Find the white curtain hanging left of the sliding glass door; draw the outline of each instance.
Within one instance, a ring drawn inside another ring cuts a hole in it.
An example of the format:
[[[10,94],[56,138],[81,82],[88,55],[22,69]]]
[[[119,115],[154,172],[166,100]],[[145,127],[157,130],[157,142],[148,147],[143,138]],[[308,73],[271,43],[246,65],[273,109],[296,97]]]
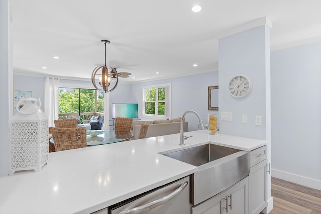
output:
[[[58,119],[59,79],[46,77],[45,81],[45,114],[48,116],[48,126],[55,127]]]

